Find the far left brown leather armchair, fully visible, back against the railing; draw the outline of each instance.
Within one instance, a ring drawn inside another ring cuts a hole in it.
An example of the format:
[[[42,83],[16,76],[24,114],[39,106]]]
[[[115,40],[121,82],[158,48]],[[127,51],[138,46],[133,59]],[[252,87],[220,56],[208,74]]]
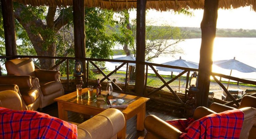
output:
[[[7,75],[30,75],[32,77],[32,86],[39,88],[41,100],[39,108],[54,103],[55,98],[64,95],[59,71],[35,69],[34,62],[30,58],[9,60],[5,63],[5,67]]]

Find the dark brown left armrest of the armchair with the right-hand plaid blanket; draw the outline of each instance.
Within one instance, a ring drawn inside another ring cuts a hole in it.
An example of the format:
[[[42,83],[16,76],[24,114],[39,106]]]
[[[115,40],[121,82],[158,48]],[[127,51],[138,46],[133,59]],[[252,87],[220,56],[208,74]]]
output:
[[[182,133],[174,126],[154,115],[149,115],[145,118],[144,126],[148,131],[147,134],[152,134],[153,137],[158,137],[159,139],[178,139]],[[152,136],[146,135],[145,138],[152,138]]]

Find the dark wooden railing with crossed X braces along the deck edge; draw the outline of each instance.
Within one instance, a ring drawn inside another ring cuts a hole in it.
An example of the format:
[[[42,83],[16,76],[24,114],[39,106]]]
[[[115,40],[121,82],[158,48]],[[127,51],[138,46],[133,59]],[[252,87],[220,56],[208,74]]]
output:
[[[129,63],[136,63],[135,61],[127,61],[127,60],[113,60],[113,59],[93,59],[93,58],[73,58],[73,57],[48,57],[48,56],[14,56],[14,57],[7,57],[7,56],[0,56],[0,59],[8,59],[8,58],[35,58],[35,59],[61,59],[60,62],[58,62],[55,66],[51,67],[48,70],[53,70],[56,67],[60,66],[64,61],[66,62],[66,73],[67,73],[67,85],[69,86],[69,60],[81,60],[81,61],[86,61],[86,67],[89,67],[89,64],[92,64],[104,77],[100,80],[100,82],[104,81],[105,79],[110,80],[109,76],[111,76],[113,73],[115,73],[117,70],[119,70],[121,67],[126,65],[126,75],[125,75],[125,87],[124,89],[121,89],[116,83],[113,83],[113,86],[115,86],[119,92],[122,93],[126,93],[126,94],[133,94],[133,95],[138,95],[138,96],[145,96],[145,97],[150,97],[150,95],[160,91],[161,89],[163,89],[164,87],[167,87],[170,92],[173,94],[173,96],[176,99],[176,102],[169,102],[169,103],[173,103],[175,105],[180,105],[180,106],[184,106],[184,103],[186,101],[186,99],[184,101],[182,101],[182,99],[177,95],[177,93],[172,89],[171,86],[169,86],[169,84],[173,81],[175,81],[176,79],[178,79],[179,77],[181,77],[183,74],[185,74],[187,72],[187,76],[186,76],[186,88],[188,88],[188,84],[189,84],[189,79],[190,79],[190,71],[198,71],[198,69],[192,69],[192,68],[184,68],[184,67],[177,67],[177,66],[169,66],[169,65],[162,65],[162,64],[155,64],[155,63],[148,63],[148,62],[138,62],[139,64],[144,64],[146,65],[146,76],[145,76],[145,86],[144,86],[144,93],[143,94],[134,94],[134,93],[130,93],[127,92],[127,76],[128,76],[128,66]],[[118,62],[118,63],[122,63],[120,66],[116,67],[115,70],[111,71],[109,74],[105,74],[104,71],[102,71],[96,64],[95,62]],[[1,65],[0,65],[1,66]],[[165,81],[164,78],[157,72],[157,70],[153,67],[153,66],[158,66],[158,67],[165,67],[165,68],[172,68],[172,69],[181,69],[184,70],[183,72],[181,72],[180,74],[178,74],[177,76],[175,76],[174,78],[172,78],[169,81]],[[1,68],[1,67],[0,67]],[[150,69],[149,69],[150,68]],[[160,78],[160,80],[164,83],[162,86],[154,89],[151,92],[147,92],[147,78],[148,78],[148,70],[153,70],[154,73],[156,74],[157,77]],[[89,75],[89,68],[86,69],[86,81],[85,81],[85,85],[88,85],[88,78]],[[232,99],[232,102],[227,103],[226,105],[232,105],[232,104],[236,104],[237,106],[239,106],[239,101],[240,99],[236,100],[229,92],[228,90],[225,88],[225,86],[216,78],[216,76],[221,77],[221,78],[227,78],[227,79],[231,79],[231,80],[236,80],[238,82],[243,82],[243,83],[247,83],[247,84],[254,84],[256,85],[256,81],[250,81],[250,80],[246,80],[246,79],[240,79],[237,77],[232,77],[232,76],[228,76],[228,75],[223,75],[223,74],[219,74],[219,73],[211,73],[211,76],[214,78],[214,80],[221,86],[221,88],[226,92],[226,94],[228,95],[228,97],[230,97]],[[115,90],[117,91],[117,90]],[[186,95],[186,94],[185,94]],[[186,96],[185,96],[186,98]],[[152,98],[155,99],[155,98]],[[163,101],[163,100],[162,100]]]

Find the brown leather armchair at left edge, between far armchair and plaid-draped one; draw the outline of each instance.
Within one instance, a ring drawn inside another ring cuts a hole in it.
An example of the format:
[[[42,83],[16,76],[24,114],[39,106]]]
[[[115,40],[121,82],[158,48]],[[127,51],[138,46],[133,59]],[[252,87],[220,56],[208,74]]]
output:
[[[31,76],[1,76],[0,77],[0,91],[13,90],[12,96],[7,97],[5,93],[0,93],[0,101],[12,109],[17,108],[14,102],[17,100],[15,96],[19,96],[22,102],[22,110],[36,111],[40,106],[39,89],[31,85]],[[17,83],[17,85],[16,85]],[[15,109],[17,110],[17,109]]]

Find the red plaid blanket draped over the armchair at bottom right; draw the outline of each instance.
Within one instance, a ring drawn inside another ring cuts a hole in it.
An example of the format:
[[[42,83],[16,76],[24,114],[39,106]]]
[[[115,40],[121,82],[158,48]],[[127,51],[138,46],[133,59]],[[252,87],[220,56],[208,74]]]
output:
[[[193,122],[190,119],[173,122],[174,125],[172,122],[168,123],[178,127],[178,129],[183,128],[184,125],[188,125],[185,133],[182,133],[180,136],[181,139],[239,139],[243,120],[244,113],[242,111],[230,110],[218,114],[211,114]],[[177,123],[182,123],[182,125],[177,126]]]

